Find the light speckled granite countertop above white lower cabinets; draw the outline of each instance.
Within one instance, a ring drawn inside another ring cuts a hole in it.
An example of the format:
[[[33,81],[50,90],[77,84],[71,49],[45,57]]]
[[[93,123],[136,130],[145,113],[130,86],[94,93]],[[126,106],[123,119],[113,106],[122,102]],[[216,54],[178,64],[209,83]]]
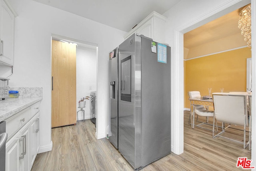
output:
[[[15,115],[19,111],[26,109],[42,99],[43,97],[41,96],[6,98],[5,100],[0,100],[0,121],[6,120],[8,117]]]

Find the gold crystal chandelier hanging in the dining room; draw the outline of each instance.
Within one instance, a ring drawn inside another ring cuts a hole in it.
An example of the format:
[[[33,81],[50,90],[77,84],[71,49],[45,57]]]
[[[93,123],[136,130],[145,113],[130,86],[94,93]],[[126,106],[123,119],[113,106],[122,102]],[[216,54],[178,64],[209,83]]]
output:
[[[241,29],[241,34],[244,35],[244,41],[247,42],[247,47],[251,47],[251,4],[241,8],[239,12],[238,28]]]

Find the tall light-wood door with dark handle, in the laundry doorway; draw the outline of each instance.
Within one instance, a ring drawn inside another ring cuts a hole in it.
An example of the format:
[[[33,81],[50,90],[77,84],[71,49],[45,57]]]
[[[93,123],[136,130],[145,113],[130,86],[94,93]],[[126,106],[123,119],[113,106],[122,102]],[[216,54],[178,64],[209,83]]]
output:
[[[52,127],[76,124],[76,45],[52,40]]]

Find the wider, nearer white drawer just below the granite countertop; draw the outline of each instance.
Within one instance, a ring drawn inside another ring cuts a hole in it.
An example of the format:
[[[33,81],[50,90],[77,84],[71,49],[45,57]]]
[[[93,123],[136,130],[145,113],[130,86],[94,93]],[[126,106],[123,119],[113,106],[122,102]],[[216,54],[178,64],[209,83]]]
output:
[[[8,139],[14,135],[30,119],[30,108],[26,108],[6,120],[6,133]]]

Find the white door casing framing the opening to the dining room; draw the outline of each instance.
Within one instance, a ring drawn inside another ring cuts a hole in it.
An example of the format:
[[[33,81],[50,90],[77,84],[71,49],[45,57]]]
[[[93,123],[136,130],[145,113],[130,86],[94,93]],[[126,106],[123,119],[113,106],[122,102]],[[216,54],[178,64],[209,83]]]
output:
[[[225,12],[227,11],[232,11],[235,10],[236,8],[242,7],[246,4],[243,4],[244,1],[239,1],[239,2],[232,2],[228,4],[225,8],[222,9],[216,9],[215,11],[212,10],[210,14],[207,16],[200,16],[196,18],[193,21],[190,21],[182,26],[179,27],[179,29],[174,31],[174,56],[173,56],[173,64],[172,64],[172,78],[174,79],[174,82],[172,83],[172,101],[173,101],[173,108],[172,108],[172,113],[173,114],[173,119],[172,119],[172,128],[173,127],[179,127],[177,131],[174,131],[173,137],[176,137],[174,140],[174,149],[176,149],[174,152],[176,154],[181,154],[183,153],[183,109],[184,109],[184,60],[183,60],[183,34],[193,30],[199,25],[205,24],[212,20],[213,17],[217,16],[222,16]],[[255,1],[253,1],[255,3]],[[253,12],[256,10],[256,6],[253,3],[252,5],[252,16],[254,16]],[[235,5],[234,5],[235,4]],[[224,9],[224,10],[223,10]],[[218,13],[216,13],[218,12]],[[255,19],[254,19],[255,20]],[[252,35],[254,35],[254,27],[255,24],[252,23]],[[255,37],[252,37],[252,42],[255,41]],[[254,61],[254,56],[255,56],[255,47],[252,46],[252,66],[256,65],[256,62]],[[255,73],[254,67],[252,67],[252,75]],[[254,77],[252,77],[252,89],[255,88],[255,81]],[[254,99],[254,95],[253,95]],[[177,107],[176,107],[177,106]],[[254,107],[252,107],[252,113],[254,113]],[[180,115],[182,113],[182,115]],[[252,117],[252,122],[254,122],[256,119]],[[252,127],[252,130],[254,130],[255,127]],[[252,137],[255,135],[254,132],[252,132]],[[254,139],[252,139],[254,141]],[[252,160],[255,158],[255,151],[252,147]]]

